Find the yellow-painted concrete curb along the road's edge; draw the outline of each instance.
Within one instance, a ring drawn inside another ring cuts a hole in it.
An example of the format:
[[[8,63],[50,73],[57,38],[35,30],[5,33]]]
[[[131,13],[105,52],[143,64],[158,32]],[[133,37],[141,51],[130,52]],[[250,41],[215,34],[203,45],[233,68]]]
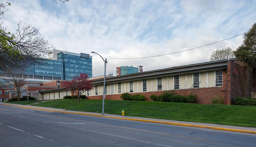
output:
[[[8,104],[4,104],[4,105],[8,105]],[[233,132],[240,132],[240,133],[256,134],[256,131],[238,130],[238,129],[228,129],[228,128],[224,128],[224,127],[213,127],[213,126],[204,126],[204,125],[192,125],[192,124],[186,124],[186,123],[163,122],[163,121],[151,121],[151,120],[147,120],[147,119],[122,118],[122,117],[102,116],[102,115],[97,115],[97,114],[87,114],[87,113],[77,113],[77,112],[64,112],[64,111],[58,111],[58,110],[31,108],[31,107],[15,106],[15,105],[8,105],[8,106],[14,106],[14,107],[20,107],[20,108],[28,108],[28,109],[36,109],[36,110],[44,110],[44,111],[51,111],[51,112],[60,112],[60,113],[69,113],[69,114],[80,114],[80,115],[85,115],[85,116],[96,116],[96,117],[106,117],[106,118],[114,118],[114,119],[123,119],[123,120],[129,120],[129,121],[141,121],[141,122],[163,123],[163,124],[167,124],[167,125],[187,126],[187,127],[199,127],[199,128],[213,129],[213,130],[223,130],[223,131],[233,131]]]

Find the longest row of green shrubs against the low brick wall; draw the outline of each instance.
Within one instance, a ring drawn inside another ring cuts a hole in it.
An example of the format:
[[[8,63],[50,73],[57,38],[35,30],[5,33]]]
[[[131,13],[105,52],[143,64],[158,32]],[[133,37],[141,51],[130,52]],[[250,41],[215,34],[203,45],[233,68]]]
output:
[[[188,102],[188,103],[196,103],[196,95],[176,95],[174,91],[164,92],[160,96],[151,95],[151,100],[159,101],[159,102]]]

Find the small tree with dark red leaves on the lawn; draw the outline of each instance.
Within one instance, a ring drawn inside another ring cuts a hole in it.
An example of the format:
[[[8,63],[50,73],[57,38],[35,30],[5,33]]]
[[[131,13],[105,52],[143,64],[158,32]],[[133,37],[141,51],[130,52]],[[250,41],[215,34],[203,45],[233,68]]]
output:
[[[80,74],[78,76],[74,76],[72,81],[65,81],[65,87],[68,90],[78,90],[77,100],[80,102],[80,95],[85,91],[90,91],[93,89],[92,80],[89,80],[89,76],[87,74]]]

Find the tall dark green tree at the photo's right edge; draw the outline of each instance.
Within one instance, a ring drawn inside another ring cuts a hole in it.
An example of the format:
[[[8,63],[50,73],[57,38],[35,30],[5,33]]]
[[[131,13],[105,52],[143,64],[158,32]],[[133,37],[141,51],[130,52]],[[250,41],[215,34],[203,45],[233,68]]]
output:
[[[244,34],[244,41],[234,52],[235,56],[249,66],[256,66],[256,23]]]

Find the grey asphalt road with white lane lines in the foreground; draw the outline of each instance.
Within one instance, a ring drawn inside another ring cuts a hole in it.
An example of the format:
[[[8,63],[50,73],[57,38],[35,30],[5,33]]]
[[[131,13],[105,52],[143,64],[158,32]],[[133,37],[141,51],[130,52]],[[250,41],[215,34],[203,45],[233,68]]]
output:
[[[0,147],[256,147],[256,134],[0,105]]]

